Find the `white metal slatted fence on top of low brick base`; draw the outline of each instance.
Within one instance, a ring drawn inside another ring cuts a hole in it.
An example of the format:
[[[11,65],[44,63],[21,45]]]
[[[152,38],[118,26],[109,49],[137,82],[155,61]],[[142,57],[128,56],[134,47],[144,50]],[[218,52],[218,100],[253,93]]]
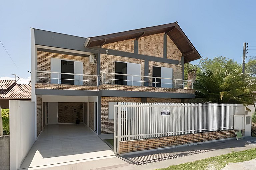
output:
[[[118,103],[114,152],[119,141],[233,129],[238,104]]]

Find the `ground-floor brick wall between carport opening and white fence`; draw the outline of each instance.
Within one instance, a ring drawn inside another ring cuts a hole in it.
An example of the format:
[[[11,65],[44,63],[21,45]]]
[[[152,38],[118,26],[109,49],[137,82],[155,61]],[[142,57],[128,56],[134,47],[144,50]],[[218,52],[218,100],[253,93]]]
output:
[[[114,132],[114,120],[108,119],[108,102],[141,102],[141,98],[101,97],[101,133]]]

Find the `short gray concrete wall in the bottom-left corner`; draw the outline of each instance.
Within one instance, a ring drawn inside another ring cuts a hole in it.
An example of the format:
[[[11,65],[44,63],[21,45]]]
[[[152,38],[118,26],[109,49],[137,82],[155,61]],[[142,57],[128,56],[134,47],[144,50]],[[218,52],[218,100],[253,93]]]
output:
[[[0,136],[0,169],[10,169],[10,135]]]

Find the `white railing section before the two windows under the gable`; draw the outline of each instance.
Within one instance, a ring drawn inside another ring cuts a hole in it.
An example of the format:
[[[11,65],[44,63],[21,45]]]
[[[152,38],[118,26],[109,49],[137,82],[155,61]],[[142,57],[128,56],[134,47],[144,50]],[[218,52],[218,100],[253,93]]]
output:
[[[161,87],[161,88],[174,88],[174,89],[193,89],[194,81],[163,78],[163,77],[152,77],[152,76],[141,76],[141,75],[130,75],[130,74],[119,74],[119,73],[106,73],[102,72],[98,77],[100,84],[121,84],[130,86],[143,86],[143,87]]]

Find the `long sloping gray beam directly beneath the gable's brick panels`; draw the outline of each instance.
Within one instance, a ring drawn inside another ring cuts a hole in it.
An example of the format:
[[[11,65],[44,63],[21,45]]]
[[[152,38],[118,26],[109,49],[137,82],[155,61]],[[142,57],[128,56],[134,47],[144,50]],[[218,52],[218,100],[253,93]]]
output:
[[[136,59],[143,59],[143,60],[148,59],[149,61],[176,64],[176,65],[179,64],[178,60],[154,57],[154,56],[150,56],[150,55],[136,54],[136,53],[131,53],[131,52],[118,51],[118,50],[102,48],[102,47],[91,47],[91,48],[95,49],[95,50],[99,50],[101,54],[105,54],[106,50],[108,50],[108,55],[116,55],[116,56],[121,56],[121,57],[129,57],[129,58],[136,58]]]

